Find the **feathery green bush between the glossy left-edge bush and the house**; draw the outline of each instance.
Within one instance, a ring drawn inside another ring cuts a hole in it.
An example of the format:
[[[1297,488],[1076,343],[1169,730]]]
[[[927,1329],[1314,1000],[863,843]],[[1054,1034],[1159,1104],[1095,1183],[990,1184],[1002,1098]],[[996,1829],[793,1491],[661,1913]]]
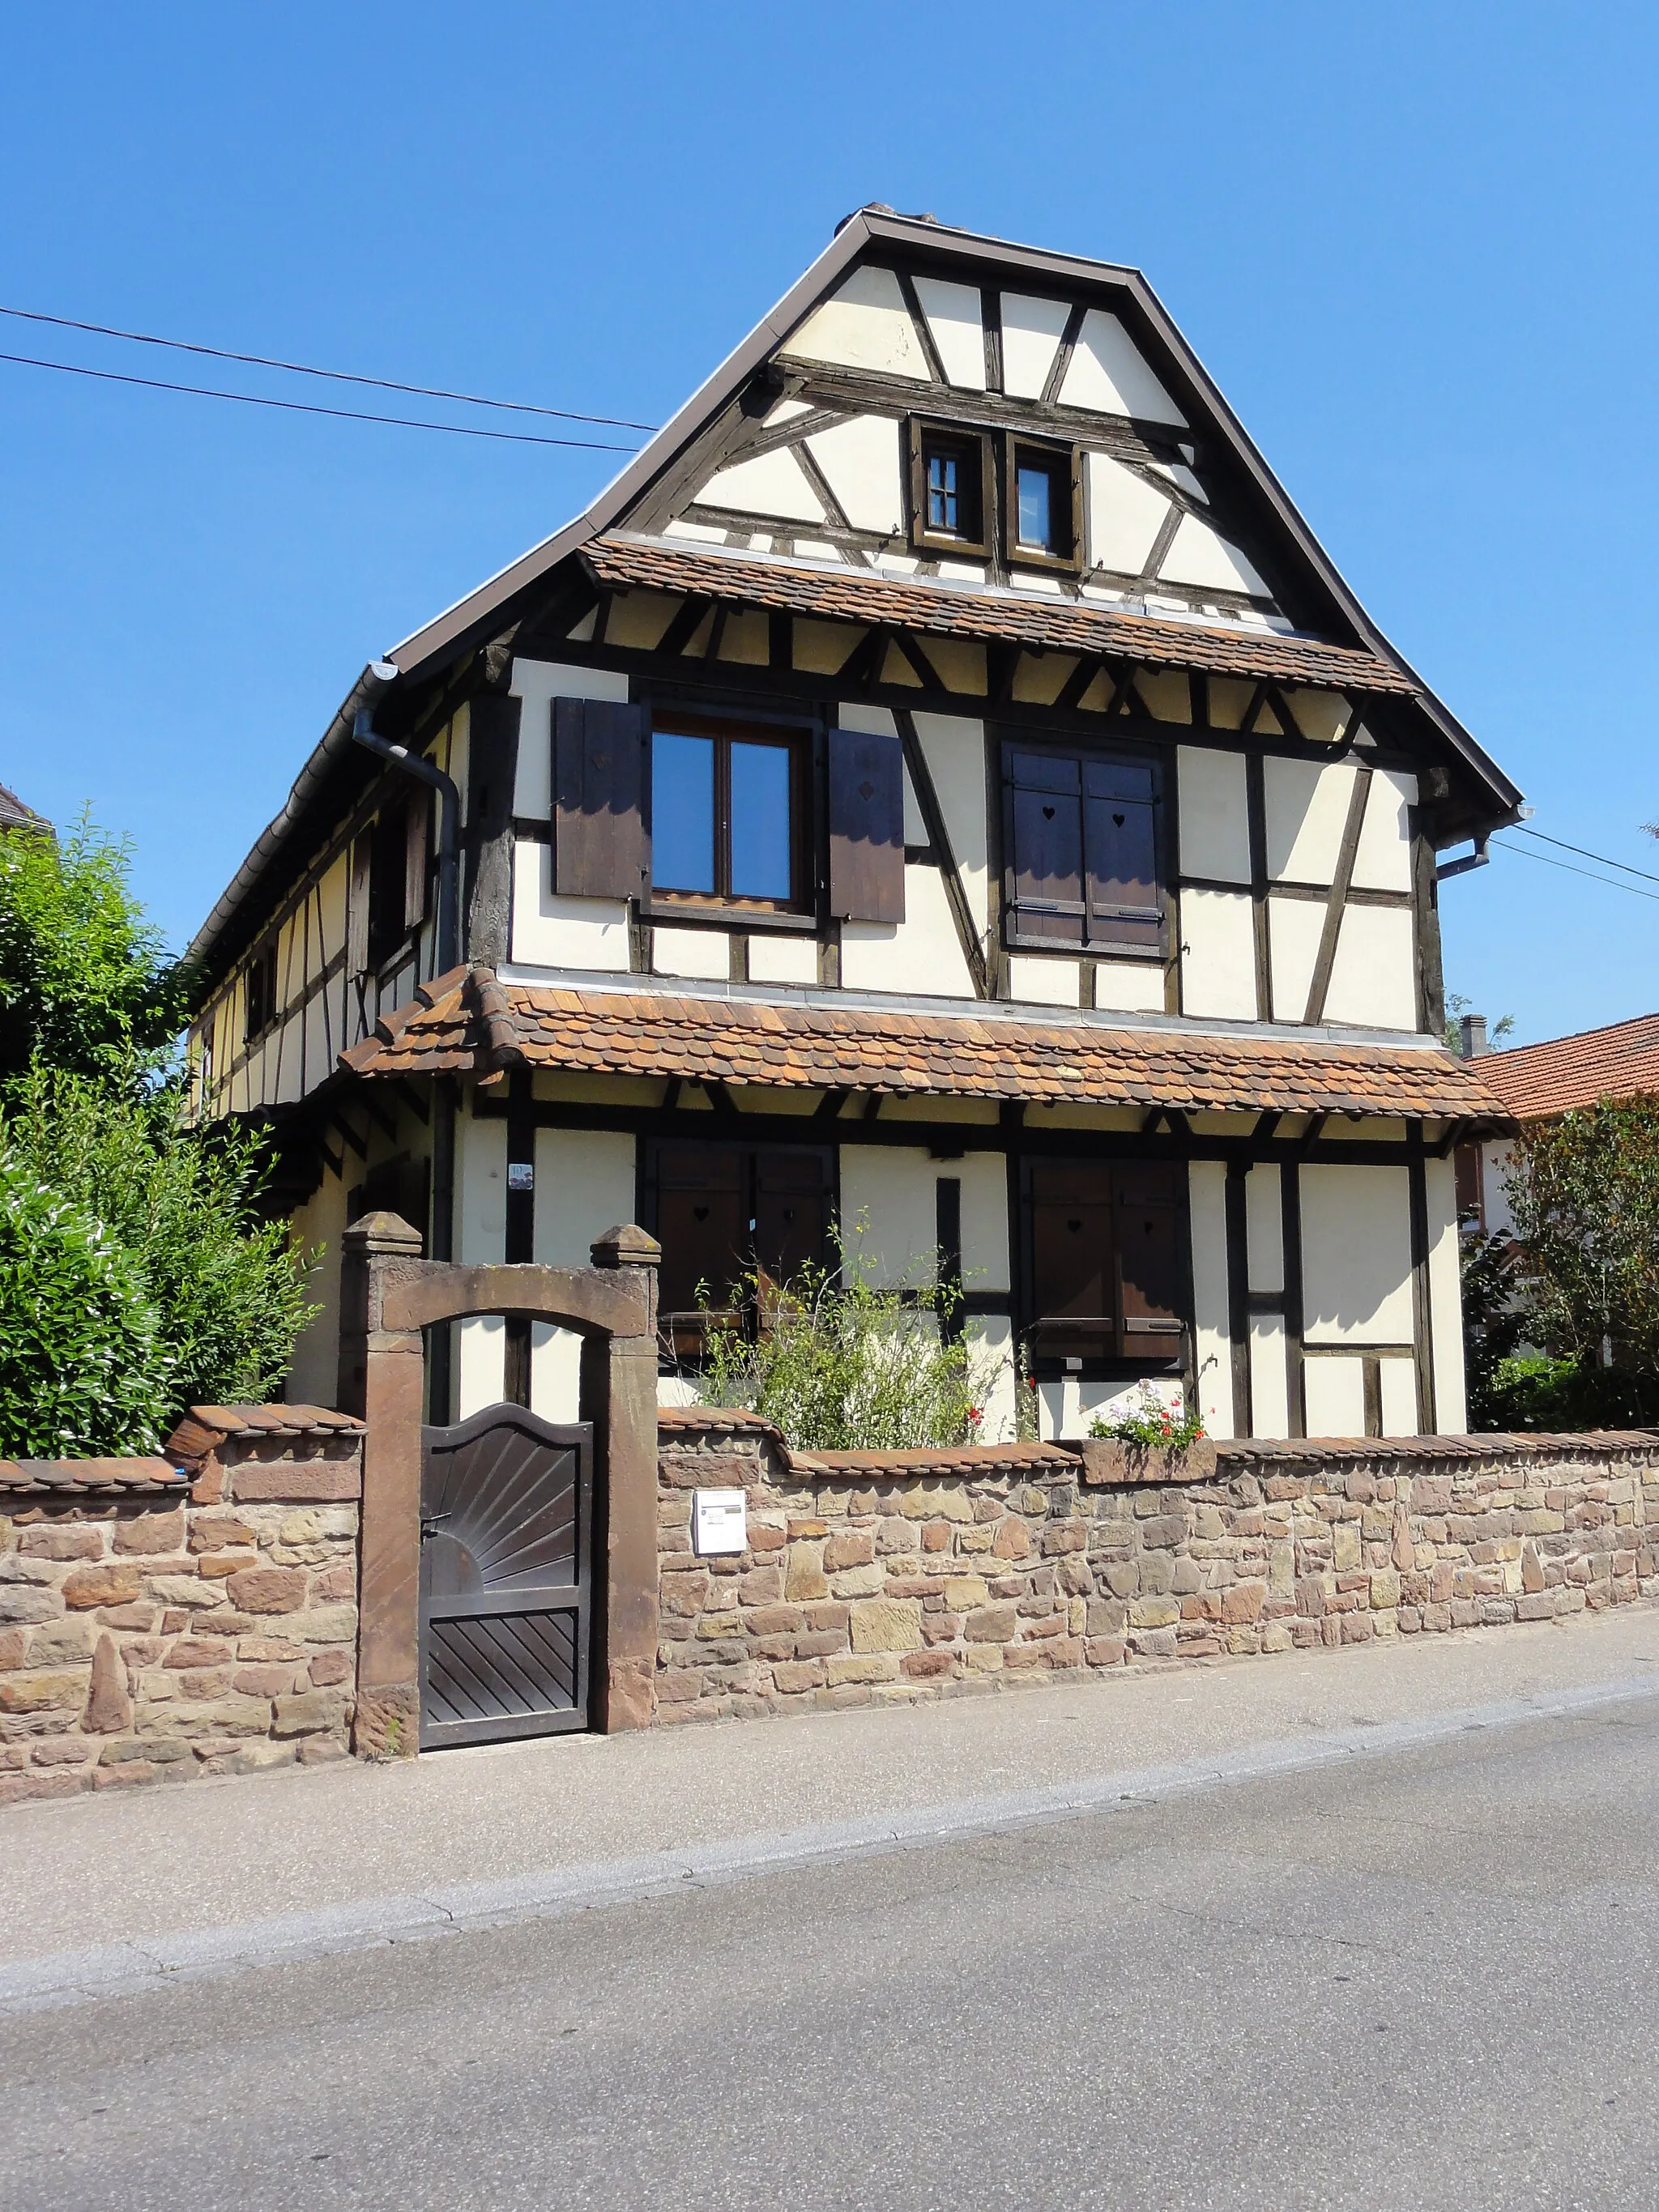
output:
[[[33,1068],[0,1113],[0,1159],[49,1186],[126,1252],[155,1310],[173,1411],[270,1396],[316,1312],[314,1256],[261,1217],[268,1168],[234,1124],[184,1128],[173,1091],[108,1091]],[[15,1312],[0,1298],[0,1332]]]

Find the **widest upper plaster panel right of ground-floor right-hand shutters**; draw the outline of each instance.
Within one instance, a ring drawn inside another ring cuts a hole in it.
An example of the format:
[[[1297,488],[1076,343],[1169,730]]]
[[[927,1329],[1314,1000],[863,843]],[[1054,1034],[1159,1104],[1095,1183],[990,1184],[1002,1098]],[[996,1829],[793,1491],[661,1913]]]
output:
[[[1310,1345],[1409,1345],[1411,1192],[1407,1170],[1316,1161],[1301,1170],[1301,1194],[1303,1340]]]

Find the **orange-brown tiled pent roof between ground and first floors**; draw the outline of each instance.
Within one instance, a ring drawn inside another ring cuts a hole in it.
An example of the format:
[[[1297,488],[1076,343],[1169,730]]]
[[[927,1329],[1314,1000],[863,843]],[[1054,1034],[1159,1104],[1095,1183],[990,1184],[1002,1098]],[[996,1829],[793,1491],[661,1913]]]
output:
[[[374,1077],[531,1066],[1044,1106],[1506,1121],[1480,1075],[1433,1048],[551,991],[502,984],[489,969],[425,984],[341,1064]]]

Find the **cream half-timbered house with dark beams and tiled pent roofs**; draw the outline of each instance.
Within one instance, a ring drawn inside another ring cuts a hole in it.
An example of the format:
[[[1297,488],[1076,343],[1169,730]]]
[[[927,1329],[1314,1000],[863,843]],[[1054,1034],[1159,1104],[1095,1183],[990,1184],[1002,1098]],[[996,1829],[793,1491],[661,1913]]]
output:
[[[358,741],[365,739],[365,741]],[[378,750],[372,750],[378,745]],[[422,781],[425,779],[425,781]],[[201,1108],[338,1239],[860,1234],[1044,1433],[1460,1429],[1436,856],[1520,794],[1378,633],[1133,270],[863,210],[595,504],[365,668],[192,956]],[[555,1411],[471,1321],[434,1416]],[[679,1378],[679,1380],[677,1380]]]

